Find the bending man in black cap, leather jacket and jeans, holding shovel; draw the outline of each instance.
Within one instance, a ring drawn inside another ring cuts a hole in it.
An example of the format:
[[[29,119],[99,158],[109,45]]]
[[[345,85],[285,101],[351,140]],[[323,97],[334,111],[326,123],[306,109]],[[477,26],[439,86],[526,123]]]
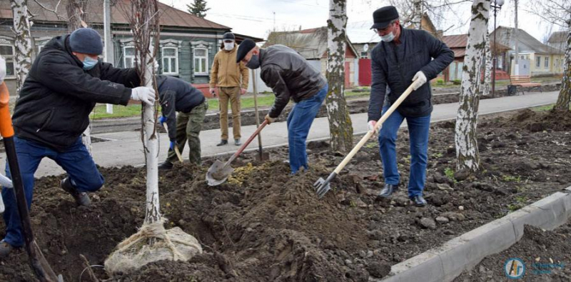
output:
[[[276,95],[266,121],[271,124],[293,99],[295,106],[288,116],[288,143],[291,173],[308,168],[305,141],[313,119],[327,95],[327,81],[293,49],[273,45],[261,49],[250,39],[238,47],[236,62],[242,61],[250,69],[261,68],[261,78]]]

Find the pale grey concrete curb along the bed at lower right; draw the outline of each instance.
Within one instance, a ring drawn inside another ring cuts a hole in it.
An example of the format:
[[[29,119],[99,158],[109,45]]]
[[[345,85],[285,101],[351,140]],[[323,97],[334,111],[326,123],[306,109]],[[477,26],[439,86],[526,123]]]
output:
[[[418,256],[395,264],[390,276],[369,281],[453,281],[483,258],[499,253],[523,236],[525,224],[552,230],[571,218],[571,186]]]

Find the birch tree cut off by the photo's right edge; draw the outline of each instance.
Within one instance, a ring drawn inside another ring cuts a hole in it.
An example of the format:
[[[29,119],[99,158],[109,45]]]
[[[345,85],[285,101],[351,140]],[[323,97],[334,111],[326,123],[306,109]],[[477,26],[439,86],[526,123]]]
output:
[[[569,111],[571,104],[571,1],[545,0],[532,2],[532,9],[528,10],[540,16],[547,22],[556,24],[567,30],[567,46],[565,48],[565,64],[563,78],[554,111]]]

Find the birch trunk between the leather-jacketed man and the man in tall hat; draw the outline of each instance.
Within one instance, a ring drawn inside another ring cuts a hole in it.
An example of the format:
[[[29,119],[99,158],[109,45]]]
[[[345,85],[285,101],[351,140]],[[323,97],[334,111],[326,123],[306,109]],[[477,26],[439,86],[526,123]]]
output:
[[[327,21],[327,81],[329,92],[325,104],[329,120],[330,147],[348,152],[353,148],[353,124],[345,101],[345,46],[347,0],[329,0]]]

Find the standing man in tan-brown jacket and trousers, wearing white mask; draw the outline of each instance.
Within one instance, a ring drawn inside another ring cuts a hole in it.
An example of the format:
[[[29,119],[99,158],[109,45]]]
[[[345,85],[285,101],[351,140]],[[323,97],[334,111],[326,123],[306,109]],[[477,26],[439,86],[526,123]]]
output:
[[[232,129],[234,144],[240,142],[240,96],[248,89],[248,68],[241,62],[236,64],[236,40],[234,34],[226,32],[222,37],[223,49],[214,56],[210,77],[210,92],[216,96],[216,87],[220,96],[221,141],[216,146],[228,143],[228,100],[232,108]]]

